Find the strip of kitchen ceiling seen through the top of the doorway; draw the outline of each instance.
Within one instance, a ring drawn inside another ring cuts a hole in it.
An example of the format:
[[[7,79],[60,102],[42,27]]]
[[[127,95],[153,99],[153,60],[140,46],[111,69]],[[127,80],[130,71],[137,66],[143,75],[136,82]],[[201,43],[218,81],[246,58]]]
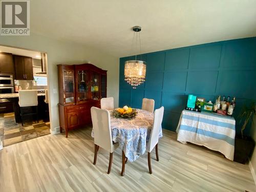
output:
[[[34,59],[41,59],[41,53],[36,51],[30,51],[26,49],[17,49],[12,47],[0,46],[0,52],[12,53],[14,55],[22,55],[32,57]]]

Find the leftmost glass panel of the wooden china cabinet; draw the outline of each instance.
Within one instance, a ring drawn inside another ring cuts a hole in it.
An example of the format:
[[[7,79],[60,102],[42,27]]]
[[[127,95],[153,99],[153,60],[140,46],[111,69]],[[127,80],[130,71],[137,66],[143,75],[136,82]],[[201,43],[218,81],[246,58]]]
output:
[[[64,91],[63,98],[65,103],[74,102],[74,71],[63,70]]]

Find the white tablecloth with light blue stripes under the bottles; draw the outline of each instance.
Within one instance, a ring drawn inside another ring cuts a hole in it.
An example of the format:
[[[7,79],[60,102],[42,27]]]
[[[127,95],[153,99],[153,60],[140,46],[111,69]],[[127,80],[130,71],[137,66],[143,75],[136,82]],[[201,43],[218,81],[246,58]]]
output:
[[[233,117],[183,110],[177,140],[203,145],[233,161],[236,120]]]

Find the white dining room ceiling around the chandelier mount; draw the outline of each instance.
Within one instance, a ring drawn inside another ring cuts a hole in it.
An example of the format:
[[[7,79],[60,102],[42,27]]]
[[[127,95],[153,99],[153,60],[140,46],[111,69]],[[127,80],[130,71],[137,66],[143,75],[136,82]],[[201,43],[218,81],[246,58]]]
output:
[[[31,31],[78,42],[117,57],[256,36],[256,0],[36,0]]]

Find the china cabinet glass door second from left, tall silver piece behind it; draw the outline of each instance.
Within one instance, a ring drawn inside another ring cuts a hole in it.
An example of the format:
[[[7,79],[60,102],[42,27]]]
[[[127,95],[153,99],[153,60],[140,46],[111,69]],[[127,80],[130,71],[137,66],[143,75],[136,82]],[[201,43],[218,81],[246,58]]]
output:
[[[89,99],[89,73],[85,70],[77,71],[77,102]]]

